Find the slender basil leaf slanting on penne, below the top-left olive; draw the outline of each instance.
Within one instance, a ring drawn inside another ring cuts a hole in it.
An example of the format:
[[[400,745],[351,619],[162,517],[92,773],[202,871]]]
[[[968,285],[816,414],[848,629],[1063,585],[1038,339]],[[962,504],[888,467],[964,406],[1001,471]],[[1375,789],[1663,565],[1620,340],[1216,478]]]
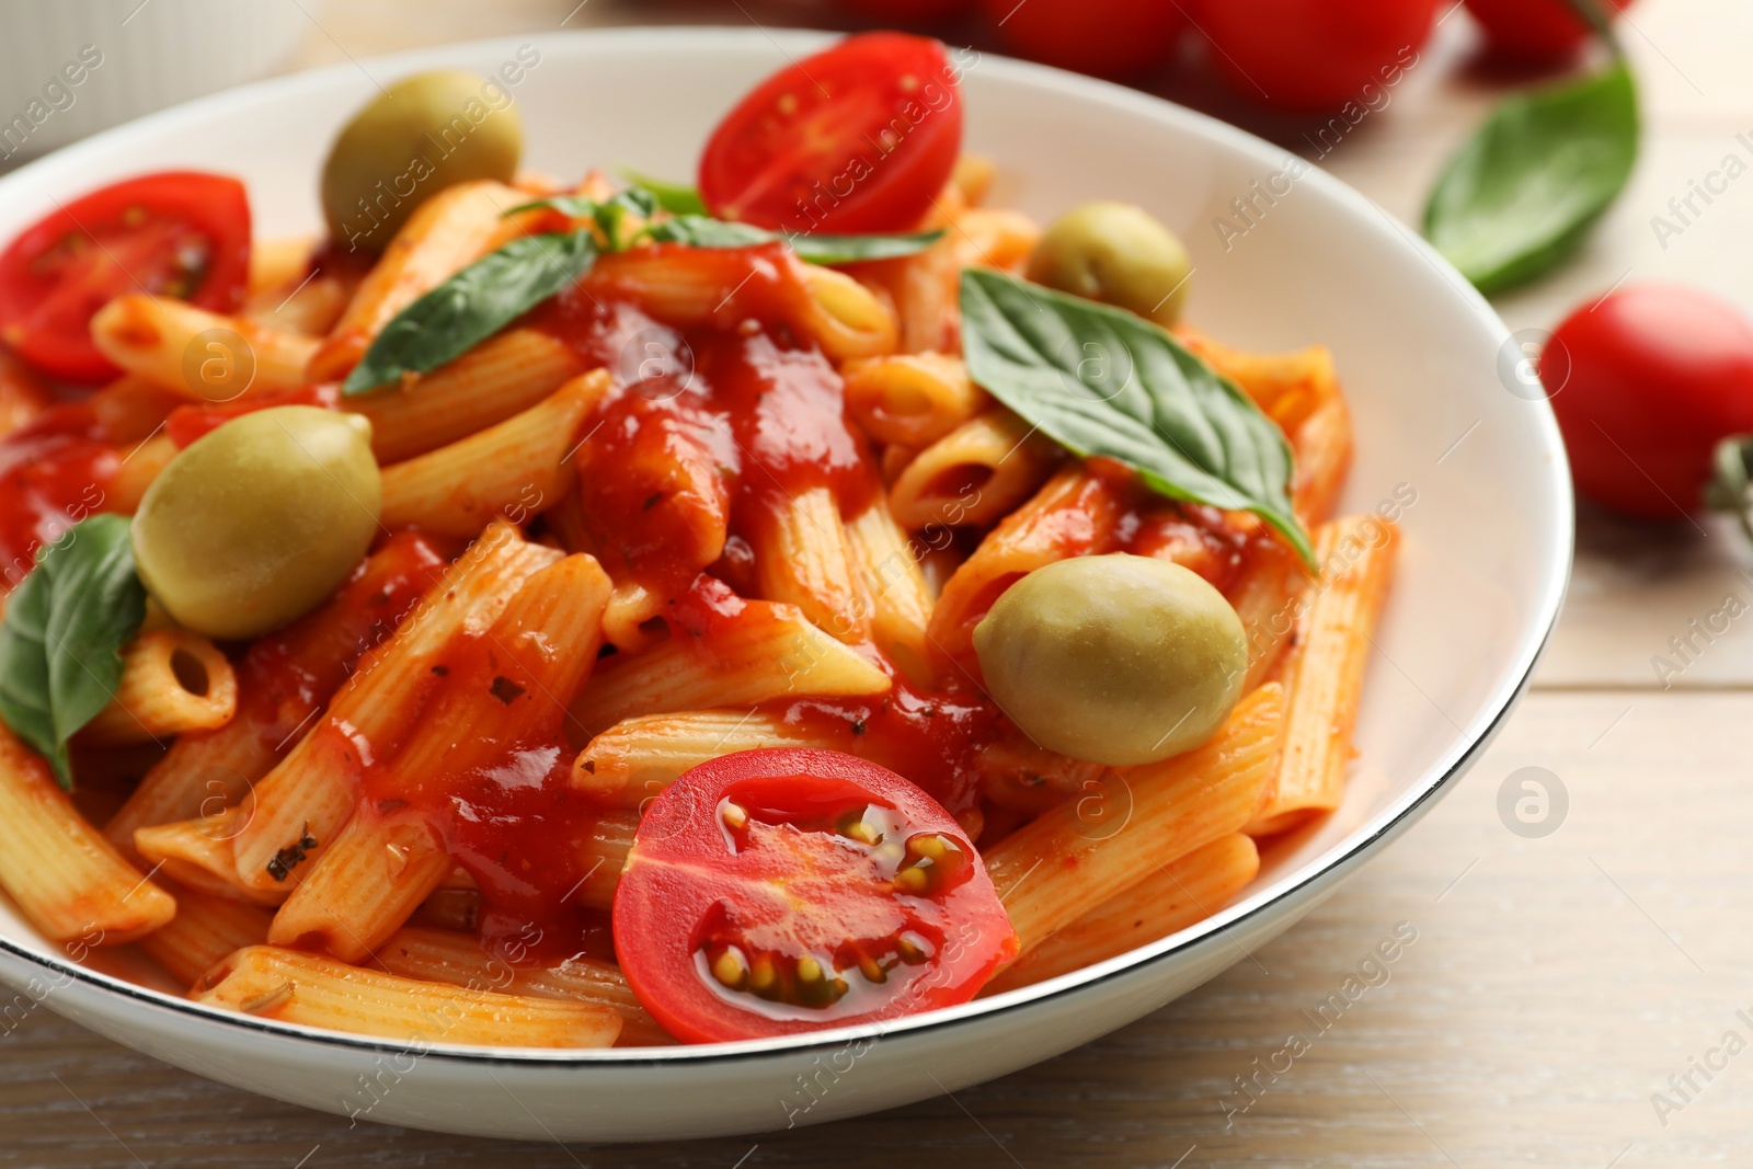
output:
[[[570,286],[596,263],[589,228],[524,235],[482,256],[403,308],[342,384],[352,398],[426,373]]]

